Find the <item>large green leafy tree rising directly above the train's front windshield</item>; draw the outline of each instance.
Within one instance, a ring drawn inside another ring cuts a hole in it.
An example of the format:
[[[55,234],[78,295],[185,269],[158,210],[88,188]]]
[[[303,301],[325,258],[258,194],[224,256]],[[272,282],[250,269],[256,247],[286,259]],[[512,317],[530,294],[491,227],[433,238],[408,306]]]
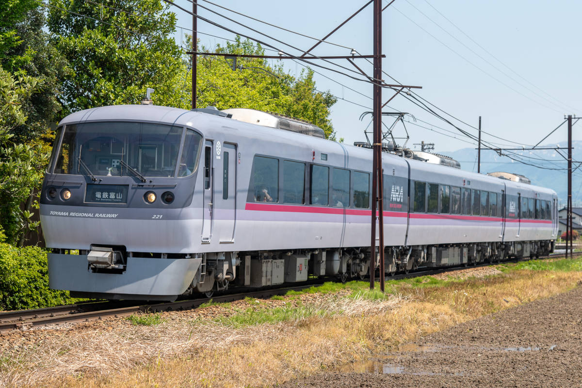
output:
[[[137,103],[150,87],[169,90],[182,69],[176,15],[159,0],[49,0],[48,28],[68,61],[61,77],[67,112]],[[74,15],[74,12],[86,17]]]

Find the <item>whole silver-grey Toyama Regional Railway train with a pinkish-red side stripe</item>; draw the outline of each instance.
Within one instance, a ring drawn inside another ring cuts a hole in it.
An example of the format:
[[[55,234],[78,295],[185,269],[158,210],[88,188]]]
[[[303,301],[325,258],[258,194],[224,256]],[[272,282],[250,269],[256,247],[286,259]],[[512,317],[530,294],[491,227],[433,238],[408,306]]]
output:
[[[386,274],[553,250],[554,191],[419,155],[384,153]],[[248,109],[70,114],[41,192],[50,286],[173,300],[229,285],[362,278],[371,158],[309,123]]]

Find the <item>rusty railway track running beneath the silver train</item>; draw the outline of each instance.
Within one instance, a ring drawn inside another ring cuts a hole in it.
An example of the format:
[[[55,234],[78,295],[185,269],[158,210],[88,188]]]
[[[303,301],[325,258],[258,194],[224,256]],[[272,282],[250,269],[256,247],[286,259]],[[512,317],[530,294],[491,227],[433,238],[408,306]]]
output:
[[[574,256],[580,256],[582,252],[574,252]],[[563,256],[562,253],[553,253],[540,258],[551,258]],[[508,260],[505,263],[516,263],[519,260]],[[492,263],[478,264],[475,267],[485,267],[494,265]],[[414,278],[417,276],[436,275],[443,272],[454,272],[464,270],[466,267],[455,268],[438,268],[436,270],[416,271],[409,274],[398,274],[386,277],[387,280]],[[229,302],[244,299],[245,297],[255,297],[257,299],[267,298],[274,295],[282,295],[290,290],[299,291],[318,286],[322,281],[331,279],[314,279],[308,283],[299,286],[272,288],[262,290],[242,290],[242,292],[227,293],[211,298],[198,298],[189,300],[178,300],[166,303],[144,303],[136,304],[135,301],[100,301],[93,303],[79,303],[65,306],[37,308],[34,310],[19,310],[0,313],[0,333],[9,330],[26,330],[34,326],[44,326],[50,324],[61,324],[64,322],[82,322],[94,319],[103,319],[107,317],[126,317],[136,312],[161,312],[161,311],[179,311],[196,308],[201,304],[212,300],[215,302]]]

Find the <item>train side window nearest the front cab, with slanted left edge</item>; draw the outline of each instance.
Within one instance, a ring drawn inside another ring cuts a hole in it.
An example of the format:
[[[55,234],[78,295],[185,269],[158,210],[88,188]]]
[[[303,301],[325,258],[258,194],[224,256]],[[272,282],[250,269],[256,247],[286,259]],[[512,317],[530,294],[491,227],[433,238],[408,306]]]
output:
[[[279,159],[254,157],[249,202],[251,195],[254,202],[279,202]]]

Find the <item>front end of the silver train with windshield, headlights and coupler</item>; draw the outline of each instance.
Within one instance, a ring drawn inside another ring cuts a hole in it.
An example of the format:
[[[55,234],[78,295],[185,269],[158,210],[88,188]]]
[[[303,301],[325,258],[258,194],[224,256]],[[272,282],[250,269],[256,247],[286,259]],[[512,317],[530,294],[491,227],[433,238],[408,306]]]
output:
[[[185,125],[59,127],[40,201],[51,288],[104,299],[183,293],[201,263],[192,236],[212,233],[202,203],[193,203],[213,177],[207,153],[201,133]],[[222,160],[234,163],[235,152],[226,146]]]

